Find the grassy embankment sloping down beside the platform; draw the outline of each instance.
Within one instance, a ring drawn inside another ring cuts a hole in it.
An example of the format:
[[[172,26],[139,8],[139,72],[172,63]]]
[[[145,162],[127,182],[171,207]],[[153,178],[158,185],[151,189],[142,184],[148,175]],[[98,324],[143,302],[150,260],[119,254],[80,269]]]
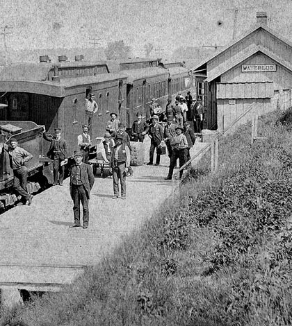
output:
[[[292,135],[260,119],[220,139],[151,221],[65,293],[35,298],[3,325],[291,325]],[[0,325],[2,325],[0,323]]]

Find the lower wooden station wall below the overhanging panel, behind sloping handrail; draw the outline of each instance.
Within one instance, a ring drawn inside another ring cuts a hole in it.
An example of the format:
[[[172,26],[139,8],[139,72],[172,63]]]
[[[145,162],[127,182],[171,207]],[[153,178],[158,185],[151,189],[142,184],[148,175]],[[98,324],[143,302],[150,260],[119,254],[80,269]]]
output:
[[[221,132],[223,130],[223,123],[224,129],[230,126],[233,121],[235,121],[241,114],[243,114],[243,112],[248,110],[252,102],[256,102],[257,105],[240,121],[238,121],[238,123],[236,123],[234,127],[231,128],[227,133],[234,132],[238,126],[246,123],[248,120],[251,120],[254,113],[257,112],[259,115],[266,114],[273,109],[270,105],[270,98],[238,98],[236,99],[235,104],[229,104],[228,98],[218,99],[218,131]]]

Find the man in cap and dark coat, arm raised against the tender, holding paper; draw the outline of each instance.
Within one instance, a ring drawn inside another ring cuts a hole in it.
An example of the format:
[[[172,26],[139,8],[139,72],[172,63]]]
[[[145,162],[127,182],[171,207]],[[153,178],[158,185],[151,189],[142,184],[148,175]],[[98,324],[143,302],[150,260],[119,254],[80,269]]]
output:
[[[47,157],[54,161],[54,184],[53,186],[63,186],[65,164],[67,163],[67,143],[61,138],[61,129],[55,128],[55,136],[43,132],[43,137],[51,142]]]

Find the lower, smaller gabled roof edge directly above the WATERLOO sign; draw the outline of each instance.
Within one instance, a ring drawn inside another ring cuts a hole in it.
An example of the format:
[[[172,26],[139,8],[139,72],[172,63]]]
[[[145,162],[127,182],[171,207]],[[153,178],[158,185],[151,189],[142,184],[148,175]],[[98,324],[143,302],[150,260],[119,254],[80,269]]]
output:
[[[234,58],[233,60],[227,60],[225,65],[220,65],[218,69],[213,69],[212,74],[206,78],[206,82],[211,82],[211,80],[214,80],[218,76],[221,76],[222,74],[225,74],[225,72],[229,71],[233,67],[241,64],[241,62],[245,61],[246,59],[250,58],[251,55],[254,55],[257,52],[261,52],[274,61],[277,61],[280,65],[285,67],[286,69],[292,71],[292,65],[290,62],[286,62],[283,58],[280,58],[279,55],[269,51],[262,45],[254,45],[249,46],[247,49],[243,51],[243,54]]]

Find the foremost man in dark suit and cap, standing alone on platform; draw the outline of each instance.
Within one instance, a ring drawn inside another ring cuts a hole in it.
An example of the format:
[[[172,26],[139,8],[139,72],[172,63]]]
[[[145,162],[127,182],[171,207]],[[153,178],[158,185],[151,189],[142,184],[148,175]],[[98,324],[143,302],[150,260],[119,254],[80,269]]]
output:
[[[75,164],[70,171],[70,195],[74,203],[74,224],[69,228],[78,228],[80,224],[80,202],[83,207],[83,229],[88,228],[90,190],[95,183],[95,177],[89,164],[82,162],[83,153],[76,151],[74,153]]]

